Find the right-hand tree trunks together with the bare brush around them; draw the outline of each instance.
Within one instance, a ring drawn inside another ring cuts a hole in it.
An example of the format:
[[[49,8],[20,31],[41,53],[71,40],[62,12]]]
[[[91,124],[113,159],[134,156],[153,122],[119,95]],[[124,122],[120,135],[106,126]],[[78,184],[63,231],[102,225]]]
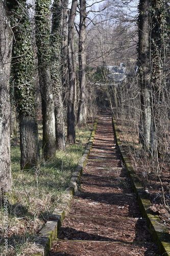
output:
[[[138,72],[111,89],[111,102],[124,124],[135,126],[138,136],[132,137],[138,137],[148,169],[160,174],[169,161],[169,3],[141,0],[136,17]]]

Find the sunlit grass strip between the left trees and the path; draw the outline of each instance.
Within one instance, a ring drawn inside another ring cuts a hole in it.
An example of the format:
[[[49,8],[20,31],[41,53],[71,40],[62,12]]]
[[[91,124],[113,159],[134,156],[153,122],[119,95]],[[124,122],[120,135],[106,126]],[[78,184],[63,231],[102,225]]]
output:
[[[42,139],[42,131],[39,132]],[[72,171],[85,151],[90,130],[76,129],[76,143],[66,145],[65,151],[55,158],[40,160],[39,167],[20,170],[19,140],[11,142],[12,193],[8,195],[9,255],[26,255],[28,243],[34,241],[36,232],[50,219],[54,208],[65,206],[67,188]],[[41,144],[41,141],[40,141]],[[1,228],[4,230],[4,212],[1,207]],[[27,246],[26,246],[27,245]],[[0,253],[3,245],[0,247]],[[7,254],[6,254],[7,255]]]

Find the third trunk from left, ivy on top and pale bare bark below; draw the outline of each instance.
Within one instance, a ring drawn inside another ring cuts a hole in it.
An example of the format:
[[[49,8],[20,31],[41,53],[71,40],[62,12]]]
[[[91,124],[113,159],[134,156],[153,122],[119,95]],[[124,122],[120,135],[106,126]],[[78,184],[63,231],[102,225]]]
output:
[[[42,98],[44,159],[56,154],[55,104],[51,79],[51,48],[50,48],[50,5],[51,1],[35,1],[36,45],[38,55],[39,83]]]

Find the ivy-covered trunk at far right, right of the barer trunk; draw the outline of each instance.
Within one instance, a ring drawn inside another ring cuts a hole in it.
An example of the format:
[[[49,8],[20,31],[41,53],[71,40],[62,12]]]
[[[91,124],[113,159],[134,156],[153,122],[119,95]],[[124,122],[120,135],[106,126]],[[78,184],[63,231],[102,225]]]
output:
[[[161,154],[161,115],[164,88],[164,49],[165,49],[165,6],[163,0],[151,0],[151,84],[152,84],[152,123],[151,152],[156,162]],[[164,114],[163,114],[164,115]]]

